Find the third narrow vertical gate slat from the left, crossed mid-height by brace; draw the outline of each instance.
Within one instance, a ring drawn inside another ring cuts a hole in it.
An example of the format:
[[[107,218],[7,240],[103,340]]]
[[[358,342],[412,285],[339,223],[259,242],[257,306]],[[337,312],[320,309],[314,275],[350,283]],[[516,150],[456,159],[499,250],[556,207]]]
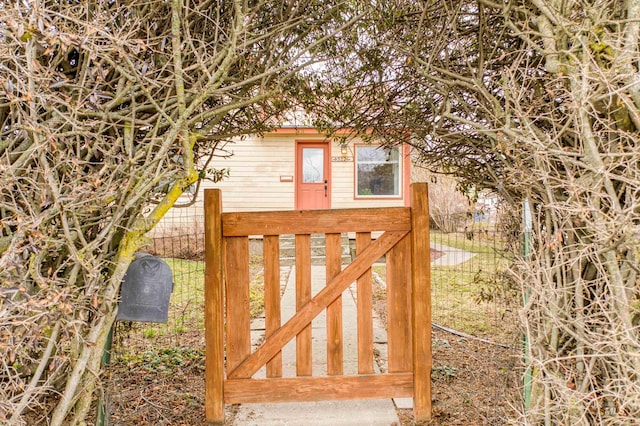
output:
[[[326,234],[326,276],[327,282],[340,273],[342,269],[342,245],[340,234]],[[342,296],[327,306],[327,374],[342,375],[343,342],[342,342]]]

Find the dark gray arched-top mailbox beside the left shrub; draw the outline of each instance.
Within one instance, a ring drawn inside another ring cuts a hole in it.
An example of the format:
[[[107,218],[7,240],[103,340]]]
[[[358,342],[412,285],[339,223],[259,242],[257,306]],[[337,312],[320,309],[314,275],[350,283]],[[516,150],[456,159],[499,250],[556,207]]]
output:
[[[124,276],[116,320],[167,322],[173,276],[167,263],[151,255],[136,258]]]

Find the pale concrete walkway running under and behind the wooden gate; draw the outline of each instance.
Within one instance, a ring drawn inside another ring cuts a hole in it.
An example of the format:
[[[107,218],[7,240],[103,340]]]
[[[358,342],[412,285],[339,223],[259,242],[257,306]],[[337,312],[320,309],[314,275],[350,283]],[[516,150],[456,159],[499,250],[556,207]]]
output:
[[[313,265],[312,294],[317,294],[325,285],[325,266]],[[295,313],[295,268],[286,281],[282,295],[282,323]],[[357,335],[355,291],[345,290],[342,295],[344,373],[357,371]],[[259,342],[264,336],[264,319],[252,323],[252,339]],[[324,313],[312,323],[313,374],[326,375],[326,320]],[[382,357],[386,354],[386,333],[380,320],[374,318],[374,344]],[[295,339],[283,348],[283,376],[295,376]],[[264,369],[255,377],[264,377]],[[396,408],[391,399],[318,401],[272,404],[242,404],[235,415],[234,425],[399,425]]]

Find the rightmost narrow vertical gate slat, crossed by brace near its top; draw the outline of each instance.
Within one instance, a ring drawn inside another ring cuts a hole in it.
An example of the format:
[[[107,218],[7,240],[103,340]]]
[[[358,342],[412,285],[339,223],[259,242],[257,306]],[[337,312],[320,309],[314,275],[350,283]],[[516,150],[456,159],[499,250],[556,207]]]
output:
[[[356,233],[356,254],[371,244],[371,232]],[[371,268],[356,280],[358,309],[358,374],[373,373],[373,288]]]

